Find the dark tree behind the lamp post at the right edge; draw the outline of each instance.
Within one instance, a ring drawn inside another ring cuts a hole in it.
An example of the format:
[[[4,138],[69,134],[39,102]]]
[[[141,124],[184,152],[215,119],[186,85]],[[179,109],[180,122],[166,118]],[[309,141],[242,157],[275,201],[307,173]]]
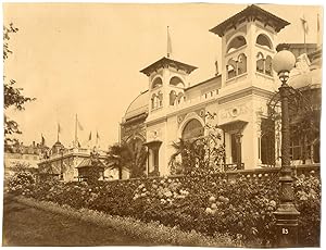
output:
[[[293,160],[319,162],[321,88],[289,89],[289,118]],[[269,121],[280,121],[280,98],[276,92],[267,103]],[[271,123],[273,125],[273,123]],[[274,127],[267,128],[273,130]]]

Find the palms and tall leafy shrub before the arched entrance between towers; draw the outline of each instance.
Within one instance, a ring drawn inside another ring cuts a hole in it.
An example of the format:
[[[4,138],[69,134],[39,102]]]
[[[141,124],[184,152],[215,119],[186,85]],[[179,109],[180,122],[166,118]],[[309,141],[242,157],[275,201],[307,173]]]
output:
[[[206,113],[208,121],[213,121],[215,116],[215,113]],[[172,174],[209,174],[222,171],[225,147],[221,141],[218,125],[206,123],[204,129],[206,135],[203,137],[179,139],[173,143],[175,153],[170,159]]]

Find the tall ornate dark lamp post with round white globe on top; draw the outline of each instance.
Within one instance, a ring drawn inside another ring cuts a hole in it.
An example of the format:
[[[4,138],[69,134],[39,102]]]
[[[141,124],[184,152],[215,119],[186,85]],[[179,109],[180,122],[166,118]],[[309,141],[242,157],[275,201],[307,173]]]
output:
[[[290,128],[289,128],[289,73],[296,63],[296,57],[286,45],[277,48],[273,59],[273,68],[277,73],[281,86],[279,87],[281,102],[281,167],[279,177],[279,205],[274,212],[277,226],[278,247],[297,247],[298,245],[298,216],[294,207],[292,176],[290,166]]]

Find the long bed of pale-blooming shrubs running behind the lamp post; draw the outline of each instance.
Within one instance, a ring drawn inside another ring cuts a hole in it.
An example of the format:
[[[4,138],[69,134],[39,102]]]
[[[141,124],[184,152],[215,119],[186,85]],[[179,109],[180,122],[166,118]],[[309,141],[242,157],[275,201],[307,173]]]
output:
[[[90,209],[110,215],[160,222],[206,236],[227,234],[246,246],[273,246],[278,202],[277,173],[225,174],[99,183],[27,183],[10,191],[37,200]],[[301,175],[294,184],[301,246],[319,245],[321,182]]]

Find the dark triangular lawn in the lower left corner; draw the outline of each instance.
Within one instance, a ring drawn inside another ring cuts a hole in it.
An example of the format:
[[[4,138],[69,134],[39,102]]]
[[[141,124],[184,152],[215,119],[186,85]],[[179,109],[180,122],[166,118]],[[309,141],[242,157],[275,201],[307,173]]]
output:
[[[2,246],[150,246],[90,223],[68,218],[4,198]]]

